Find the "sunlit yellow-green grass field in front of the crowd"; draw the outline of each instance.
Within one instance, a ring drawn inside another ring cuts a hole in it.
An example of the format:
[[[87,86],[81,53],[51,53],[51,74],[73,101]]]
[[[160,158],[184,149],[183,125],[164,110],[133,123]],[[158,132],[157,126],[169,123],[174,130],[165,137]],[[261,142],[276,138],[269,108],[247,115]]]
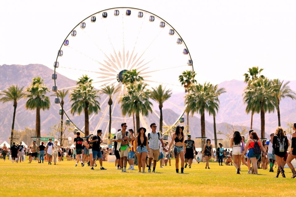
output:
[[[247,174],[242,166],[237,175],[234,166],[193,163],[185,174],[175,173],[172,166],[159,168],[157,173],[139,174],[138,170],[122,173],[114,163],[103,162],[108,170],[91,171],[74,167],[73,161],[58,165],[11,163],[0,160],[0,196],[295,196],[296,179],[286,169],[286,179],[273,178],[274,173],[259,169],[260,175]],[[137,167],[137,166],[135,166]],[[146,170],[147,171],[147,170]],[[280,190],[279,190],[280,186]]]

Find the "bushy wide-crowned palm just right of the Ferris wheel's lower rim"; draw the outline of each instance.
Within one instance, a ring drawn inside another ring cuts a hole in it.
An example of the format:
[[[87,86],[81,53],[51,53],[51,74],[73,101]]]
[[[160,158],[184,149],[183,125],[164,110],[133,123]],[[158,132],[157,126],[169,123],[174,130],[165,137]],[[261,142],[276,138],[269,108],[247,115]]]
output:
[[[200,114],[201,137],[206,137],[205,112],[209,112],[210,109],[218,110],[218,101],[213,93],[213,85],[210,83],[192,85],[189,93],[185,95],[185,103],[192,116],[194,113]],[[205,143],[204,139],[202,143]]]

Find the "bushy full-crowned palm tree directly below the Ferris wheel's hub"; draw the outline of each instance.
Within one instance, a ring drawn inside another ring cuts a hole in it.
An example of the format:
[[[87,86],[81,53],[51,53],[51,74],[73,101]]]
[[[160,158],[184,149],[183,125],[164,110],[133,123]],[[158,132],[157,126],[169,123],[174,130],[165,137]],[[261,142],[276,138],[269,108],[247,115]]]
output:
[[[120,98],[123,115],[136,114],[136,131],[140,128],[140,113],[147,116],[152,112],[152,103],[149,101],[151,92],[146,89],[147,84],[134,82],[126,85],[127,92]]]

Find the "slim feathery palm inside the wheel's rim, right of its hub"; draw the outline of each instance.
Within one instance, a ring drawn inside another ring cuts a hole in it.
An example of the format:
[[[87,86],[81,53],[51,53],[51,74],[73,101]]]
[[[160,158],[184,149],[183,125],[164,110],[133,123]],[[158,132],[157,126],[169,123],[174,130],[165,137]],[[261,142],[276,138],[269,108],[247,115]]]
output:
[[[160,111],[160,120],[159,120],[159,132],[162,133],[162,107],[163,103],[171,97],[171,90],[166,90],[162,88],[162,85],[159,85],[156,88],[152,88],[151,98],[158,103],[158,108]]]

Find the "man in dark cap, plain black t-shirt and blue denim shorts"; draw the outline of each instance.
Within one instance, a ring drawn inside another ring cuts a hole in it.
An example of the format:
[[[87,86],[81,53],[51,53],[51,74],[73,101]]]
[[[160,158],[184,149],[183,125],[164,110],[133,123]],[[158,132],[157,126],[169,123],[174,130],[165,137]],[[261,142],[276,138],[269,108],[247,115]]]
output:
[[[97,130],[97,135],[93,135],[91,140],[89,141],[92,143],[92,163],[91,163],[91,170],[93,170],[93,164],[95,163],[97,157],[99,158],[101,170],[107,170],[106,168],[103,167],[103,160],[102,160],[102,152],[101,152],[101,147],[100,144],[103,142],[101,139],[102,135],[102,130],[98,129]]]

